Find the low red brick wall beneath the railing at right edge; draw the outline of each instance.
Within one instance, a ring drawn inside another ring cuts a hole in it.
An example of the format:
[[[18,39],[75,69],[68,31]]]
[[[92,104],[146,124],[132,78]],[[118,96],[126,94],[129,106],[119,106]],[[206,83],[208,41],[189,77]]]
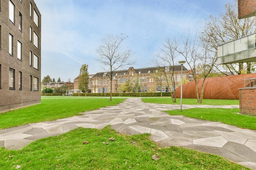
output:
[[[239,88],[240,113],[256,116],[256,88]]]

